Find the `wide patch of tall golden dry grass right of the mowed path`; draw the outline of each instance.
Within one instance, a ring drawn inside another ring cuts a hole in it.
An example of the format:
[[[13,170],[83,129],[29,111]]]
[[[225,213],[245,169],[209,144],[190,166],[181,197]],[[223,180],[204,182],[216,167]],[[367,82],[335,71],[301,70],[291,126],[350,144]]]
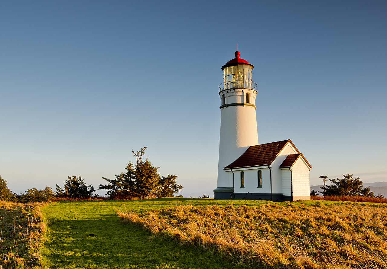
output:
[[[117,211],[180,243],[215,248],[246,266],[387,268],[387,205],[291,202],[262,206],[175,206]]]

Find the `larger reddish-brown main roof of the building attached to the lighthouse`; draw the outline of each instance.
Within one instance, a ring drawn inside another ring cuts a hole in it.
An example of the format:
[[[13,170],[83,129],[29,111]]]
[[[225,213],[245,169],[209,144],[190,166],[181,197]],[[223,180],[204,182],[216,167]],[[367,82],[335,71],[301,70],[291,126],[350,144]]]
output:
[[[278,156],[279,152],[286,146],[286,144],[291,143],[291,145],[296,149],[298,154],[300,154],[303,159],[308,163],[307,159],[298,151],[296,146],[291,142],[290,139],[271,142],[266,144],[260,144],[256,146],[250,146],[248,149],[233,163],[224,167],[223,169],[231,169],[231,168],[240,168],[240,167],[253,167],[253,166],[262,166],[262,165],[270,165],[274,159]],[[298,155],[291,154],[291,155]],[[310,166],[310,164],[308,163]],[[282,166],[282,164],[281,164]],[[312,166],[310,166],[312,168]]]

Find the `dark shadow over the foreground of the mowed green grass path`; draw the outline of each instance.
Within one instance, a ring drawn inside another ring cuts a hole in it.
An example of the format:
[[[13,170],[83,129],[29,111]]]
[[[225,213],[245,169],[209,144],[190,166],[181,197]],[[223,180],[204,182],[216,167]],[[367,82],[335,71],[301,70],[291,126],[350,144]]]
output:
[[[122,223],[113,213],[87,219],[57,216],[48,219],[48,226],[50,268],[242,268],[211,251]]]

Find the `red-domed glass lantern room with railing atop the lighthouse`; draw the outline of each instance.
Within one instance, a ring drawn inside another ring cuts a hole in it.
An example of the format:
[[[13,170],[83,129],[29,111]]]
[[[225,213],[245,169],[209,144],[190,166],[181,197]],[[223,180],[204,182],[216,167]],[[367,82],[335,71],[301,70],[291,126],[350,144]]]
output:
[[[254,66],[240,58],[240,52],[235,51],[235,58],[222,66],[223,83],[219,85],[219,93],[226,89],[253,89],[257,84],[252,81]]]

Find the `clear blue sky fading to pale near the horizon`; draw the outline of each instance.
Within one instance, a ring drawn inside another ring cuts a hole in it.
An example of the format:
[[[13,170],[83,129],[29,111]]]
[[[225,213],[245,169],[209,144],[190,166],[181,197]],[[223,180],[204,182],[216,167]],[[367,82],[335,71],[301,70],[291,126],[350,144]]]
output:
[[[238,42],[261,144],[291,139],[312,185],[387,181],[386,14],[386,1],[1,1],[0,175],[17,193],[71,175],[98,187],[147,146],[183,194],[213,195]]]

